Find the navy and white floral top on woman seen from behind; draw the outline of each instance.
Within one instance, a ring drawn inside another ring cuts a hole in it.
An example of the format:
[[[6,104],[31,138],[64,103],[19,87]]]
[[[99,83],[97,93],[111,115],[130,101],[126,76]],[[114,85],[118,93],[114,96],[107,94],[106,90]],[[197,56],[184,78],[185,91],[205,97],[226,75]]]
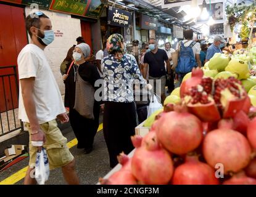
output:
[[[128,103],[134,102],[133,82],[146,85],[133,55],[123,55],[122,61],[110,54],[101,62],[104,79],[104,101]]]

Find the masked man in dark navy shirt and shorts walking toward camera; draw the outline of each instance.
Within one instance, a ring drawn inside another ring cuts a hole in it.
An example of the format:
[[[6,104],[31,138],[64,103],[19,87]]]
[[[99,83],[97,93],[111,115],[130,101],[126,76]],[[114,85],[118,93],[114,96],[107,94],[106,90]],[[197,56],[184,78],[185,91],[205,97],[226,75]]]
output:
[[[149,39],[149,49],[150,52],[147,52],[144,55],[144,66],[143,66],[143,77],[146,79],[147,68],[149,68],[149,79],[154,83],[154,93],[157,94],[159,90],[157,89],[160,82],[160,92],[159,95],[162,98],[162,102],[165,100],[165,84],[166,84],[166,75],[170,75],[171,65],[168,59],[167,53],[163,49],[158,48],[158,41],[154,38]],[[165,70],[165,63],[167,64],[167,72]]]

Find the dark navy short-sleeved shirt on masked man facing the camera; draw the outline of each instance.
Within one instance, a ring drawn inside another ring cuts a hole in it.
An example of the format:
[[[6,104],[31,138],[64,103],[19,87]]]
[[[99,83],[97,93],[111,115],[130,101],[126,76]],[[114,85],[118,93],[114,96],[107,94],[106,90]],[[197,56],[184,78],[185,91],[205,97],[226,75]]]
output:
[[[165,61],[168,60],[167,53],[163,49],[158,49],[154,54],[147,52],[144,55],[144,63],[149,65],[149,76],[160,78],[166,74]]]

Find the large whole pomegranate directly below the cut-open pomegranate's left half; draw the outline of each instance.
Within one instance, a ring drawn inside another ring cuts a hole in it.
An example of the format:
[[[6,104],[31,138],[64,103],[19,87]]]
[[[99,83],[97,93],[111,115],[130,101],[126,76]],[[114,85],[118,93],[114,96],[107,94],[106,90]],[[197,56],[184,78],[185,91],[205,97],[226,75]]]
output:
[[[163,147],[177,155],[196,149],[203,138],[202,122],[179,105],[158,120],[156,132]]]

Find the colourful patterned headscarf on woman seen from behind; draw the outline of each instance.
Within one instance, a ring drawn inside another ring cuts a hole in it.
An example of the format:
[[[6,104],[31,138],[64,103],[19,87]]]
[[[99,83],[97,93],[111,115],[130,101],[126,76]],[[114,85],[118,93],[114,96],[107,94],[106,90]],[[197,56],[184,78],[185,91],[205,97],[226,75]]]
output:
[[[121,34],[115,33],[109,36],[107,39],[107,52],[109,54],[116,54],[118,60],[123,58],[123,54],[125,54],[125,39]]]

